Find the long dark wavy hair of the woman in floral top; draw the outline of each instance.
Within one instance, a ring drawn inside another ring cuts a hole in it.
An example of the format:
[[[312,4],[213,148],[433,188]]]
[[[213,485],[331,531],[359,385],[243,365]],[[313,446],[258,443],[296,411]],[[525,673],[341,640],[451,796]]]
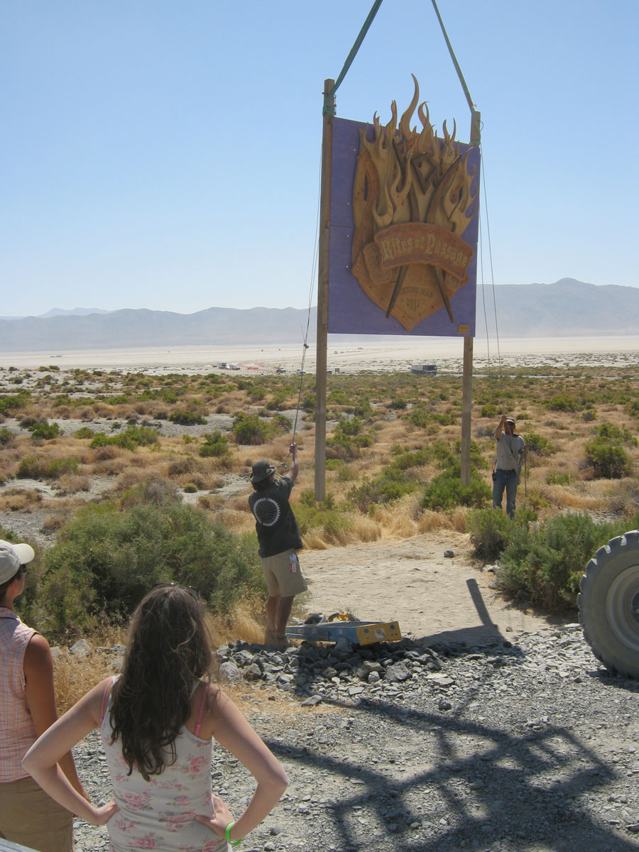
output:
[[[210,673],[204,605],[177,585],[150,591],[131,618],[122,676],[113,685],[111,726],[122,756],[145,780],[176,760],[191,715],[193,681]]]

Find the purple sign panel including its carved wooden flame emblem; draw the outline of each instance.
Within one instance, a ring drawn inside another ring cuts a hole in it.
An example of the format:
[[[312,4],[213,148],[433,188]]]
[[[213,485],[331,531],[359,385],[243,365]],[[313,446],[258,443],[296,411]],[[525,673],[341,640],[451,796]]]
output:
[[[418,114],[333,119],[331,333],[475,335],[479,148]]]

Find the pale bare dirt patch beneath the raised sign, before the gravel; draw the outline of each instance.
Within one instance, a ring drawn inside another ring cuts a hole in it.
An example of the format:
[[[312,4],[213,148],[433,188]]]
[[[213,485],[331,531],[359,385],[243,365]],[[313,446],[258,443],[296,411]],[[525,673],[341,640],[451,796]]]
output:
[[[454,556],[444,556],[446,550]],[[494,573],[476,567],[469,550],[468,536],[449,530],[404,541],[302,550],[309,608],[398,621],[404,636],[469,645],[565,623],[505,601],[489,587]]]

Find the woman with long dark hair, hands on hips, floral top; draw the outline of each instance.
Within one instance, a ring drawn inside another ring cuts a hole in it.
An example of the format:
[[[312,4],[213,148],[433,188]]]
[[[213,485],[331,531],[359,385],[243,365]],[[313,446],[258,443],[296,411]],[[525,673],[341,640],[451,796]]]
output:
[[[23,765],[66,809],[107,824],[112,852],[217,852],[270,813],[288,780],[233,701],[209,682],[212,644],[191,590],[164,585],[135,610],[122,675],[98,683],[27,752]],[[99,727],[113,800],[95,808],[57,767]],[[238,820],[211,792],[213,740],[257,781]],[[211,832],[213,835],[211,836]]]

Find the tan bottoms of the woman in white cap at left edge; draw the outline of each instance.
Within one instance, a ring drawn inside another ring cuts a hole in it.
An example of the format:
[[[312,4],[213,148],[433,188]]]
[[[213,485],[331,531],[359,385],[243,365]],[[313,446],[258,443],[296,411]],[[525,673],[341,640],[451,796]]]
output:
[[[71,813],[31,776],[0,784],[0,838],[37,852],[72,852]]]

